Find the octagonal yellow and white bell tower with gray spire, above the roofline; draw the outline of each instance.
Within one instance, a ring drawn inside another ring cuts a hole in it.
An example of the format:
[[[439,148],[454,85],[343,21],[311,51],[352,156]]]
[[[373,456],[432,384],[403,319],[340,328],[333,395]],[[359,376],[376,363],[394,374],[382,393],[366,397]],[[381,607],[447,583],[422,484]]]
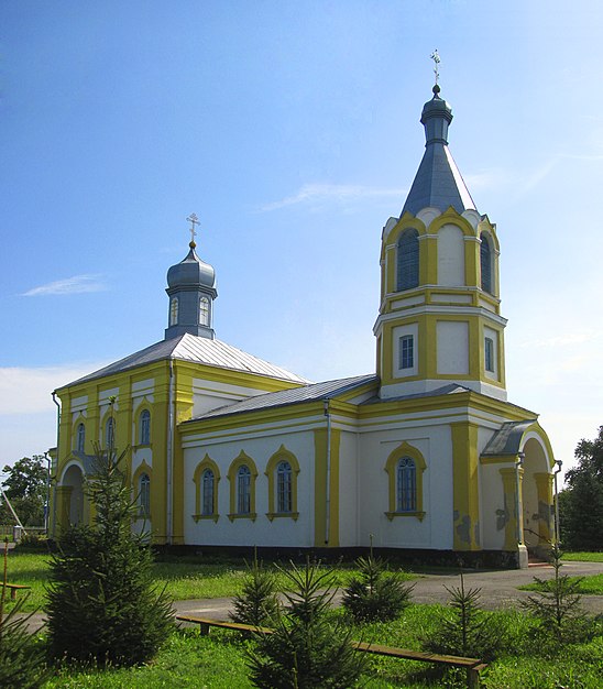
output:
[[[481,215],[448,149],[452,110],[425,103],[425,153],[381,243],[374,326],[382,398],[448,384],[506,400],[496,227]]]

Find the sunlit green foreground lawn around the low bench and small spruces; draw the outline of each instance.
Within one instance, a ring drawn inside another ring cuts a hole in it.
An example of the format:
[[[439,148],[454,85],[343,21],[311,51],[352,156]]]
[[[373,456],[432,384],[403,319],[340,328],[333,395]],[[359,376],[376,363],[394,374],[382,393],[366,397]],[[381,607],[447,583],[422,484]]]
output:
[[[441,605],[410,605],[394,622],[358,627],[357,638],[404,648],[420,648],[420,638],[438,624]],[[335,613],[340,614],[340,613]],[[574,645],[558,657],[538,657],[534,645],[526,644],[534,621],[520,612],[497,612],[493,622],[506,630],[506,649],[482,674],[487,689],[558,689],[574,687],[599,689],[603,672],[603,637]],[[43,689],[246,689],[245,648],[252,644],[238,634],[213,631],[200,636],[197,631],[175,632],[156,659],[149,666],[131,669],[75,670],[64,667]],[[370,656],[363,680],[368,689],[408,687],[427,689],[464,686],[452,683],[453,676],[424,663]]]

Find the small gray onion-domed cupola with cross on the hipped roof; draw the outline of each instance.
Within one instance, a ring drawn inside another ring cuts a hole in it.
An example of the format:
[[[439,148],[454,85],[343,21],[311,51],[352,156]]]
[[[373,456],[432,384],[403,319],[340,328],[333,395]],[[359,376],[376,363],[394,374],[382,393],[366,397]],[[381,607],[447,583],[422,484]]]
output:
[[[167,295],[169,297],[168,327],[165,339],[179,337],[185,332],[213,339],[212,328],[216,272],[195,251],[196,216],[189,216],[193,223],[191,240],[186,258],[167,271]]]

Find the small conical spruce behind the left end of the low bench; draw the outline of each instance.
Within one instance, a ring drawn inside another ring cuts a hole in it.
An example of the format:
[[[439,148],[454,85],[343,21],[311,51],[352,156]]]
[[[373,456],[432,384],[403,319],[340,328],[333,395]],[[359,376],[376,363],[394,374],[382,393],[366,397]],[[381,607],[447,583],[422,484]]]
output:
[[[230,617],[234,622],[256,626],[276,624],[281,609],[276,598],[276,576],[257,561],[257,553],[254,553],[251,567],[248,565],[242,591],[234,597],[233,604],[234,612]]]

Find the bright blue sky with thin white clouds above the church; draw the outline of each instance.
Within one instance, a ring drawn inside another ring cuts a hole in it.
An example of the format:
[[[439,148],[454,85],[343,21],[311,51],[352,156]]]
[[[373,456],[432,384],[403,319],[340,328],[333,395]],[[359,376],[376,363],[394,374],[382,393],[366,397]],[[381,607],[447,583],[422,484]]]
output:
[[[53,389],[163,338],[190,212],[220,339],[372,372],[434,48],[502,244],[509,400],[568,466],[603,424],[602,28],[594,0],[3,0],[2,466],[54,445]]]

